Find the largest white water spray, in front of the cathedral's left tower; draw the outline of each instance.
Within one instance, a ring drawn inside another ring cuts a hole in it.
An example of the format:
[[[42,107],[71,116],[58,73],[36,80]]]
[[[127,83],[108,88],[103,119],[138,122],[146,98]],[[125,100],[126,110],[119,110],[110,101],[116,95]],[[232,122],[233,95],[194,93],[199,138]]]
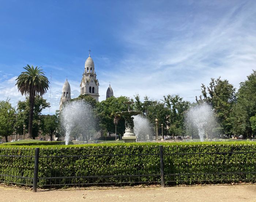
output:
[[[95,122],[93,111],[89,104],[82,100],[76,100],[65,104],[61,110],[61,126],[65,131],[65,144],[71,136],[88,140],[95,134]]]

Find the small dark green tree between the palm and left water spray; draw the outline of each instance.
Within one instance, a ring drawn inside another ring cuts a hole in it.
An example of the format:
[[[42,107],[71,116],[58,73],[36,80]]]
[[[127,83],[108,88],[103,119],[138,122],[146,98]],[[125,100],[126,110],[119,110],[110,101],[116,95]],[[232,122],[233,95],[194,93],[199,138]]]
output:
[[[58,127],[57,116],[56,115],[47,115],[42,116],[41,119],[41,130],[43,135],[48,134],[52,141],[53,136],[56,134]]]

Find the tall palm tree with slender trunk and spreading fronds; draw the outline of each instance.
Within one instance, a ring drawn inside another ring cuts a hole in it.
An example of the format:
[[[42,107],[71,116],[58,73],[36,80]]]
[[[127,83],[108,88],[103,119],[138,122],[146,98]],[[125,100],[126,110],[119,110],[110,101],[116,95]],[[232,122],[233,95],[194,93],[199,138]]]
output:
[[[49,88],[49,81],[41,67],[34,68],[33,65],[31,67],[27,65],[23,68],[26,71],[18,76],[15,86],[18,87],[22,95],[29,96],[29,137],[31,138],[35,96],[42,96],[46,93]]]

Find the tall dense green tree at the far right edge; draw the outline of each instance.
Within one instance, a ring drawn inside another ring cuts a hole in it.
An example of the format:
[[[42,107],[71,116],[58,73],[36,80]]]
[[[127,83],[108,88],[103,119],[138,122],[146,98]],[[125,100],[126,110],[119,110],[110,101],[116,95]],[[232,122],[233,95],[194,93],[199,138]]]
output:
[[[244,138],[252,136],[250,118],[256,114],[256,71],[240,83],[237,92],[237,103],[233,107],[232,131]]]

